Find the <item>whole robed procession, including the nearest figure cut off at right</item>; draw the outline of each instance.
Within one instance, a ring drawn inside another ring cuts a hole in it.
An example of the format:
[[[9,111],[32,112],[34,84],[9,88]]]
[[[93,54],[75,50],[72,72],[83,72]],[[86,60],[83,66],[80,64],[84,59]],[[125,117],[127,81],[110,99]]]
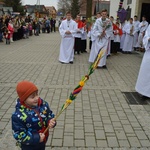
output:
[[[73,20],[71,13],[67,12],[66,19],[59,27],[62,37],[59,61],[62,64],[73,64],[74,54],[86,52],[87,37],[90,38],[90,63],[93,63],[99,52],[103,50],[103,57],[97,69],[107,69],[106,58],[111,54],[146,51],[137,79],[136,91],[146,98],[150,97],[150,75],[148,73],[150,69],[150,26],[145,16],[142,16],[141,22],[137,18],[135,15],[134,19],[130,18],[123,23],[120,23],[119,20],[114,22],[114,17],[108,17],[107,10],[102,10],[97,13],[96,21],[89,28],[86,20],[81,20],[80,15]]]

